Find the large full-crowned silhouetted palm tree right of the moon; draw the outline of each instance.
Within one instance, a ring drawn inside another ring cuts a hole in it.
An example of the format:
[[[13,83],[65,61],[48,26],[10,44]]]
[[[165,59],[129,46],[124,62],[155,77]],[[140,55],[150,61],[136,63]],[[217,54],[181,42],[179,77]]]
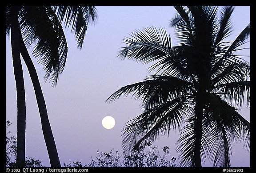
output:
[[[177,46],[164,29],[135,31],[120,51],[120,58],[155,62],[155,75],[127,85],[106,101],[133,93],[144,112],[123,128],[123,148],[137,148],[169,131],[180,130],[176,150],[180,165],[201,167],[208,158],[214,167],[229,167],[231,143],[242,140],[250,150],[250,123],[238,113],[247,96],[250,104],[250,66],[234,52],[241,50],[250,24],[233,42],[233,7],[175,6],[170,24],[176,28]]]

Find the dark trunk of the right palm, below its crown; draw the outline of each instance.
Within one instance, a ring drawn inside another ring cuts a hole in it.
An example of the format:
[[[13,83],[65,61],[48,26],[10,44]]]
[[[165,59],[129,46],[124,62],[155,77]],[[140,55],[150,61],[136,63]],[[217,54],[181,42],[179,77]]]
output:
[[[200,98],[196,102],[195,106],[195,121],[194,121],[194,130],[195,130],[195,149],[194,149],[194,166],[202,167],[201,163],[201,141],[202,141],[202,120],[203,120],[203,109],[200,104]]]

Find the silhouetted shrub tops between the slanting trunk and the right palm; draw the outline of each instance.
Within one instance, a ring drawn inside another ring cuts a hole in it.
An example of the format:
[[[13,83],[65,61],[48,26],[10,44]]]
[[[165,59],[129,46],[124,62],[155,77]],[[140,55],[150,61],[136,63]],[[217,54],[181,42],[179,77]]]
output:
[[[131,150],[129,153],[123,153],[124,159],[119,155],[118,151],[112,149],[108,153],[97,152],[96,160],[92,158],[91,163],[83,165],[80,161],[64,163],[64,167],[176,167],[176,158],[167,160],[168,147],[163,147],[163,155],[159,154],[157,146],[152,146],[152,142],[148,142],[148,151],[143,146],[138,149]]]

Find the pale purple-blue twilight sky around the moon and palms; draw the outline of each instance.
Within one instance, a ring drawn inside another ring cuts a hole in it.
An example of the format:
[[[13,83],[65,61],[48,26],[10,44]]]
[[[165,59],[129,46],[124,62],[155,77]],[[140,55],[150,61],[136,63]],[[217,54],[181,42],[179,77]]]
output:
[[[121,61],[117,52],[124,46],[122,39],[136,29],[162,27],[172,37],[176,45],[174,29],[169,21],[176,13],[172,6],[96,6],[98,20],[89,25],[82,50],[77,49],[74,35],[66,31],[68,58],[64,72],[60,75],[56,88],[44,83],[43,66],[32,58],[40,78],[47,105],[48,116],[60,162],[81,161],[83,165],[95,158],[97,151],[109,152],[112,148],[122,154],[121,130],[124,124],[142,113],[141,101],[131,96],[107,104],[104,101],[120,87],[144,80],[149,74],[149,65],[132,60]],[[228,37],[233,41],[250,23],[250,6],[236,6],[233,15],[233,33]],[[247,44],[250,47],[250,43]],[[239,54],[250,55],[250,50]],[[250,62],[250,57],[244,58]],[[32,82],[24,67],[26,91],[26,157],[40,159],[42,165],[50,166],[43,138]],[[6,120],[12,125],[8,131],[16,136],[16,86],[13,74],[10,38],[6,37]],[[250,108],[240,112],[250,122]],[[105,129],[101,120],[110,115],[116,119],[112,129]],[[169,147],[169,156],[178,158],[176,141],[179,132],[161,137],[153,145],[161,149]],[[211,166],[208,161],[203,166]],[[242,143],[232,145],[232,167],[250,167],[250,152]]]

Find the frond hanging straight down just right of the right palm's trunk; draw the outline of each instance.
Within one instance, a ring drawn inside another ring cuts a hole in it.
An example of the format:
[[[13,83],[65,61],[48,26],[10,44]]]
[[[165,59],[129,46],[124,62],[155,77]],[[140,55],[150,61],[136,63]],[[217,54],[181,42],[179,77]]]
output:
[[[229,167],[231,146],[228,132],[232,124],[234,108],[229,106],[220,96],[208,93],[204,96],[204,126],[208,127],[208,155],[214,167]],[[237,135],[237,134],[236,134]]]

